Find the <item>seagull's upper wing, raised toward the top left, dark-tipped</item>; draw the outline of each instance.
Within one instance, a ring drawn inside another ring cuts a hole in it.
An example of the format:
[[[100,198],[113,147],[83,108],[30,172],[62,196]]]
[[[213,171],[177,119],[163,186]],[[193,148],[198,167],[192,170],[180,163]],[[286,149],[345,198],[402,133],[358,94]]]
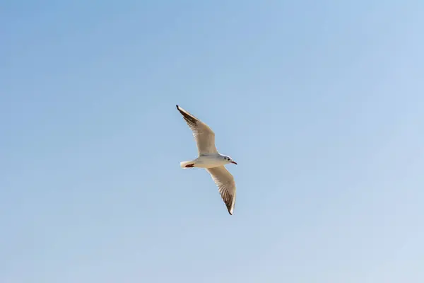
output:
[[[201,154],[216,154],[218,151],[215,146],[215,133],[212,129],[201,120],[194,117],[186,110],[177,105],[178,111],[181,113],[184,120],[192,129],[194,140],[197,144],[197,151]]]

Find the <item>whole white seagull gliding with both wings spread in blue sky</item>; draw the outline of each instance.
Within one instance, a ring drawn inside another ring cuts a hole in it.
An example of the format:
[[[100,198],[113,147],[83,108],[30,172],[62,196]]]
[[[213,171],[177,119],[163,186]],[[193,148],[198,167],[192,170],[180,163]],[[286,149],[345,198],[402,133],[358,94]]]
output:
[[[211,174],[212,180],[218,187],[218,192],[227,206],[228,213],[232,215],[235,205],[234,177],[225,168],[226,164],[236,164],[230,156],[220,154],[215,146],[215,133],[212,129],[192,114],[177,105],[177,110],[192,129],[194,140],[197,144],[199,156],[192,161],[182,161],[180,166],[187,168],[205,168]]]

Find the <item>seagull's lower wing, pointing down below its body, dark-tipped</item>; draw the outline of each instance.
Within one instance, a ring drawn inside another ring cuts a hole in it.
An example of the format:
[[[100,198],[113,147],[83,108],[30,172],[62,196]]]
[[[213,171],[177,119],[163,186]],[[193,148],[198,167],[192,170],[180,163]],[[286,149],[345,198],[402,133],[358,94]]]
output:
[[[218,192],[227,206],[228,213],[232,215],[235,206],[234,177],[232,177],[225,166],[206,168],[206,170],[211,174],[213,181],[218,186]]]

